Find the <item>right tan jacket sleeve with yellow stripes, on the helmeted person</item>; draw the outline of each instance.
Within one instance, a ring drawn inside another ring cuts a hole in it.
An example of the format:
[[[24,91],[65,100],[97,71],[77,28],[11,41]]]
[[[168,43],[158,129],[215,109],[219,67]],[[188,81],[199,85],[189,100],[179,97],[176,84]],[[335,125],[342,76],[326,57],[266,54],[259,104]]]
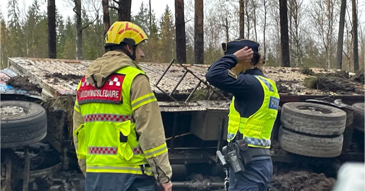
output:
[[[167,183],[172,177],[164,125],[157,99],[145,75],[132,81],[131,105],[139,146],[151,166],[155,179]]]

